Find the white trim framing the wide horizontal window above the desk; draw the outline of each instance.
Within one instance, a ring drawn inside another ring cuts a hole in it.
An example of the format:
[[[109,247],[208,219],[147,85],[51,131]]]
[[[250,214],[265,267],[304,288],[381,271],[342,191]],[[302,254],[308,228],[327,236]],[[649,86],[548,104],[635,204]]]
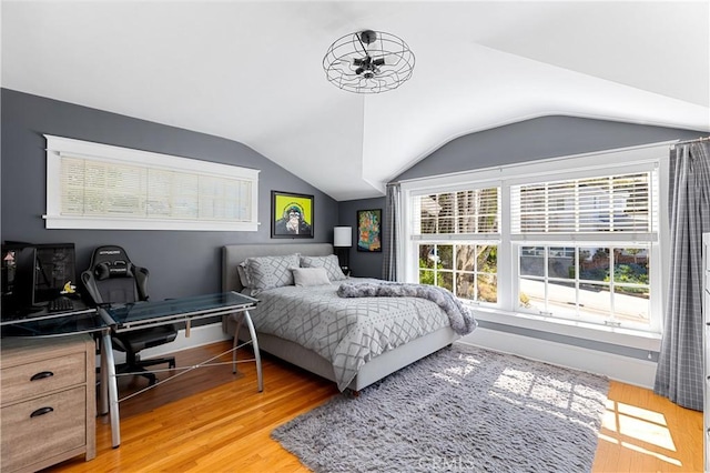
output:
[[[113,147],[44,134],[47,139],[47,214],[42,215],[48,229],[97,230],[197,230],[197,231],[257,231],[258,230],[258,170],[200,161],[149,151]],[[151,169],[191,172],[199,175],[232,178],[251,183],[248,221],[83,217],[61,214],[61,158],[77,157],[103,162],[136,164]]]

